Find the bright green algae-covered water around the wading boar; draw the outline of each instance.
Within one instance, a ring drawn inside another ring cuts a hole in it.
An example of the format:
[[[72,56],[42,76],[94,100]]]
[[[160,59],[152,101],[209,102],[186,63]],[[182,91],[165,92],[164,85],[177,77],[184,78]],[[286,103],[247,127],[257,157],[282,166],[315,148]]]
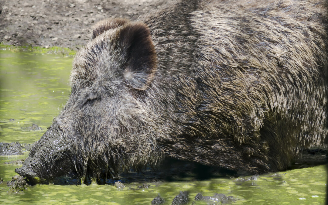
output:
[[[0,142],[31,144],[40,139],[68,98],[72,60],[63,54],[0,50]],[[25,129],[32,124],[41,129]],[[157,177],[160,180],[153,180],[156,170],[146,170],[144,174],[121,174],[107,185],[77,185],[68,179],[66,185],[35,185],[21,194],[7,192],[6,182],[21,166],[10,162],[27,156],[28,152],[0,156],[0,177],[4,179],[0,204],[151,204],[158,193],[165,204],[171,204],[179,191],[188,192],[189,204],[208,204],[195,201],[197,193],[234,196],[235,204],[325,203],[326,165],[259,176],[213,175],[203,180],[189,171],[179,173],[183,169],[178,165],[175,171],[166,172],[166,177]],[[113,185],[117,180],[126,187],[118,190]]]

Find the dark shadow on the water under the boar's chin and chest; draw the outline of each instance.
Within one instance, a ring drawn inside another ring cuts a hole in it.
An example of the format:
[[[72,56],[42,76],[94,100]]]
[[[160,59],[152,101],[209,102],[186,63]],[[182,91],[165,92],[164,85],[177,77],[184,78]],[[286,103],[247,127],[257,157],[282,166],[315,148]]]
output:
[[[146,183],[157,181],[177,182],[187,180],[201,181],[216,177],[236,176],[238,176],[236,171],[166,157],[156,167],[152,168],[147,166],[139,172],[131,169],[129,172],[122,172],[111,179],[107,179],[105,183],[104,181],[98,183],[113,185],[116,181],[121,181],[122,183]],[[81,182],[77,180],[77,175],[73,173],[64,177],[58,177],[54,179],[52,183],[55,185],[81,184]],[[91,183],[91,179],[87,180],[88,185]]]

